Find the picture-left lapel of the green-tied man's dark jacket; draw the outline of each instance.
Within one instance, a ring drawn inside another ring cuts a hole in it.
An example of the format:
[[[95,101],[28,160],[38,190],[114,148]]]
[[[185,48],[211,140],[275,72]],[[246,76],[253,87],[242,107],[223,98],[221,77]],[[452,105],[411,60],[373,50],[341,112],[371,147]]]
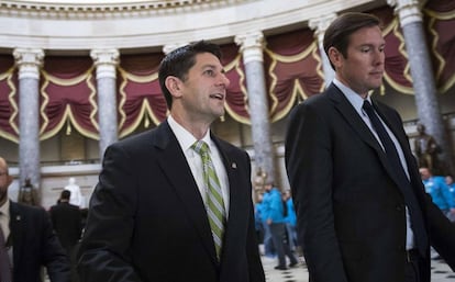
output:
[[[167,122],[163,122],[157,131],[154,146],[157,147],[157,159],[163,173],[167,176],[207,251],[215,261],[217,253],[204,204],[180,145]]]

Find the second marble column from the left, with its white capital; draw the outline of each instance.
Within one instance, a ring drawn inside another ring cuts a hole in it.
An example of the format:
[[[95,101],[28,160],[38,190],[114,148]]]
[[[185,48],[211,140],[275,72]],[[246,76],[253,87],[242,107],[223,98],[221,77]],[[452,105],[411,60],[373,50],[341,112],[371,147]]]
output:
[[[118,140],[116,65],[118,49],[92,49],[90,56],[97,68],[98,125],[100,159],[106,148]]]

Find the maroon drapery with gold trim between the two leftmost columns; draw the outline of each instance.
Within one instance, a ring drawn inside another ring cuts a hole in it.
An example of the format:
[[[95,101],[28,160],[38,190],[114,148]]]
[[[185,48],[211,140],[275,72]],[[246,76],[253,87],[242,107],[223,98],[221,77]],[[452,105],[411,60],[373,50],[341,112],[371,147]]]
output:
[[[47,57],[41,79],[41,139],[66,125],[98,138],[97,97],[92,60],[89,57]]]

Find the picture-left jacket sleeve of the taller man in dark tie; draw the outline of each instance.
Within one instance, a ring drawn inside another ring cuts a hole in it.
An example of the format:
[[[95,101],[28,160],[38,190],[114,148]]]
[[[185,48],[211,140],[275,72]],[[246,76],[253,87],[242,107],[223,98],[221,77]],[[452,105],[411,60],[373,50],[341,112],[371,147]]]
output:
[[[298,240],[314,281],[346,282],[334,226],[331,134],[311,104],[300,104],[290,117],[286,168],[297,213]]]

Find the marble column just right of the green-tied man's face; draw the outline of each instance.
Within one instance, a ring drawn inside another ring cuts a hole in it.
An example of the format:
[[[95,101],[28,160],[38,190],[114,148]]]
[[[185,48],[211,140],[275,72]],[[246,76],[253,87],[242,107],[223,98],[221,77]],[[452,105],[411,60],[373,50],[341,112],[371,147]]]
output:
[[[255,165],[257,170],[260,169],[266,173],[266,181],[275,182],[275,151],[270,137],[270,119],[264,75],[264,35],[262,32],[237,35],[235,43],[241,46],[246,71]]]

